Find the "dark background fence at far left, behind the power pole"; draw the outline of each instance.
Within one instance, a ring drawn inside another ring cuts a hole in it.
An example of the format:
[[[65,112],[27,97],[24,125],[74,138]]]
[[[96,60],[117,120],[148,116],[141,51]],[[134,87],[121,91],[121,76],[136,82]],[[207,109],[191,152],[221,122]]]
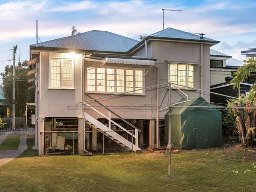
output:
[[[0,135],[35,135],[35,128],[26,125],[25,117],[15,118],[15,130],[12,129],[11,117],[3,117],[2,122],[6,123],[4,129],[0,129]]]

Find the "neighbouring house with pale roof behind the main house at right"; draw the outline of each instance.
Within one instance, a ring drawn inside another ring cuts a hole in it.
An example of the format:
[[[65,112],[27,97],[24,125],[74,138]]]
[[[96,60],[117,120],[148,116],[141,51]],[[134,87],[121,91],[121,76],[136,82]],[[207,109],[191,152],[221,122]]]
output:
[[[210,49],[210,75],[211,85],[225,83],[227,76],[232,76],[239,66],[243,66],[243,61],[232,58],[230,55]]]

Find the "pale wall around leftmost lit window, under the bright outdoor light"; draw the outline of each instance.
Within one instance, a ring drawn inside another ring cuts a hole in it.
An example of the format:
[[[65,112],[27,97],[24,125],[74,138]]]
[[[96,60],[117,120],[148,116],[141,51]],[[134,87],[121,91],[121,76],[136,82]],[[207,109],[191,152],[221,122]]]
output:
[[[49,57],[74,58],[74,89],[49,88]],[[82,101],[82,54],[41,52],[38,114],[41,117],[78,117],[82,109],[67,109]]]

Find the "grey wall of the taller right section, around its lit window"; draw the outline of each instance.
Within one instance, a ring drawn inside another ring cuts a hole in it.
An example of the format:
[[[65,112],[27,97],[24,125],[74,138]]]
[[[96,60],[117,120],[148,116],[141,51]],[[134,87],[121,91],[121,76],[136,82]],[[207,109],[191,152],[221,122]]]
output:
[[[152,58],[157,59],[155,66],[160,70],[160,84],[167,83],[168,81],[168,62],[173,63],[201,63],[201,45],[197,43],[184,43],[184,42],[167,42],[167,41],[152,41]],[[142,50],[142,49],[141,49]],[[140,56],[139,50],[136,52]],[[145,50],[144,50],[145,51]],[[143,53],[143,51],[142,51]],[[203,58],[202,65],[204,69],[203,76],[203,89],[210,91],[210,45],[203,44]],[[200,89],[200,65],[194,65],[194,87]],[[156,85],[156,84],[154,84]],[[167,86],[166,86],[167,87]],[[189,97],[200,96],[200,91],[193,89],[183,89]],[[160,88],[159,103],[161,102],[165,93],[164,87]],[[156,91],[155,91],[156,94]],[[184,95],[179,91],[172,89],[172,103],[179,102]],[[210,102],[210,94],[204,92],[203,98]],[[168,101],[168,94],[165,96],[162,105],[166,105]],[[166,111],[159,113],[159,118],[164,118]]]

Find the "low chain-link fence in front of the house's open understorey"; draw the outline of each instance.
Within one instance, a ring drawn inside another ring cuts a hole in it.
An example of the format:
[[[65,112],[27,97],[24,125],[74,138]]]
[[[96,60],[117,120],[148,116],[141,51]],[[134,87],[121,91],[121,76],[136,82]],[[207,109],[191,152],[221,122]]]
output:
[[[133,152],[136,151],[134,132],[44,131],[40,133],[41,155],[92,155]]]

